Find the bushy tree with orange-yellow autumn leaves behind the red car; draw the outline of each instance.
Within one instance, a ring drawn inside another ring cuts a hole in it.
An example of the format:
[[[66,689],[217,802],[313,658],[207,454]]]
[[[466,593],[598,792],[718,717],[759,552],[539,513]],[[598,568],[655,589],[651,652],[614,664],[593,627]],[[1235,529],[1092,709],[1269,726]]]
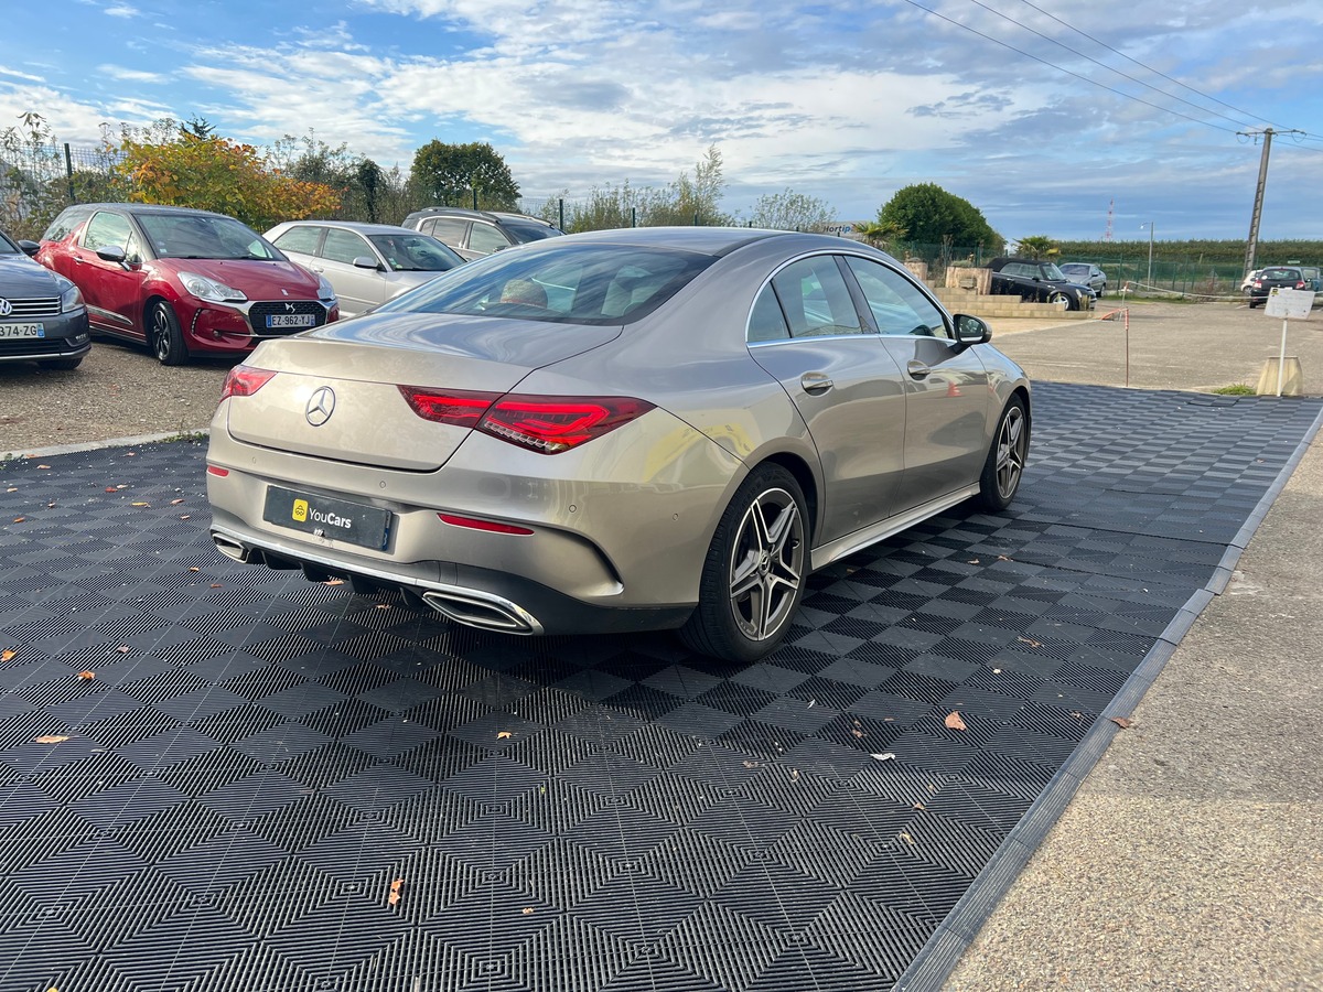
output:
[[[118,142],[107,139],[106,151],[134,202],[214,210],[258,231],[339,209],[340,194],[331,186],[286,176],[251,144],[209,131],[164,120],[124,130]]]

